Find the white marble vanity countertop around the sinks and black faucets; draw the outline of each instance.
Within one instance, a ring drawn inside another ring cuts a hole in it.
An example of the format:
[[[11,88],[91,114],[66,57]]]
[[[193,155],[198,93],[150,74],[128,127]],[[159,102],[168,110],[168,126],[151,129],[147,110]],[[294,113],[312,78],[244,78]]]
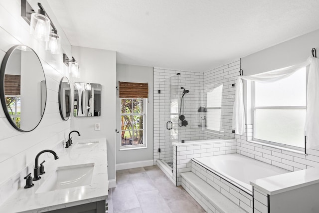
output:
[[[98,141],[98,143],[95,146],[78,146],[78,143],[91,141]],[[40,155],[39,163],[43,160],[47,161],[44,164],[45,174],[40,175],[40,180],[33,181],[34,187],[32,188],[24,189],[25,183],[21,183],[22,187],[0,206],[0,213],[42,213],[107,200],[108,174],[105,138],[73,139],[73,145],[70,148],[62,147],[61,143],[53,151],[56,152],[59,159],[52,160],[53,155],[51,153]],[[36,193],[45,180],[55,173],[57,167],[88,163],[94,163],[90,185]],[[31,176],[34,177],[33,171]]]

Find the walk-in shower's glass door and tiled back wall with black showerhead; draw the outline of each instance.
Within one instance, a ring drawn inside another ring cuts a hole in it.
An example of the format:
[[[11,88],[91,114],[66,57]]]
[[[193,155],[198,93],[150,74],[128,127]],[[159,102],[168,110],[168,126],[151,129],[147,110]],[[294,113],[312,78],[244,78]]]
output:
[[[160,161],[170,169],[172,143],[194,140],[196,132],[201,131],[197,109],[202,105],[202,91],[202,85],[185,80],[183,74],[173,75],[159,84],[158,154]]]

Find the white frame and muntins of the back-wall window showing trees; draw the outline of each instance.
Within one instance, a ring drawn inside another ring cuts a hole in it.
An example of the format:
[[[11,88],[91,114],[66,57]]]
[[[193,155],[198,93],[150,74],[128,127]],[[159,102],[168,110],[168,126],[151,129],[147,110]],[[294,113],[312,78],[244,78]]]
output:
[[[121,111],[121,103],[122,103],[122,99],[130,99],[132,100],[132,104],[133,104],[133,100],[136,99],[142,99],[143,100],[143,113],[122,113]],[[143,144],[137,144],[134,145],[134,143],[132,145],[122,145],[122,137],[120,136],[120,150],[131,150],[131,149],[143,149],[143,148],[147,148],[147,98],[120,98],[120,123],[121,123],[121,118],[123,115],[129,115],[129,116],[143,116],[143,129],[139,129],[137,131],[143,131]],[[134,138],[134,124],[133,124],[133,129],[132,130],[122,130],[122,124],[121,124],[121,129],[120,129],[120,133],[122,133],[123,131],[132,131],[133,132],[133,138]]]

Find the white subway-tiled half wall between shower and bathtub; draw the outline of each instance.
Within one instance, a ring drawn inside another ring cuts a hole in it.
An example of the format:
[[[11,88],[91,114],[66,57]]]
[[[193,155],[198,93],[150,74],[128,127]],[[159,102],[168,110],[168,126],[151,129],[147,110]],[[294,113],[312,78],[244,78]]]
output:
[[[173,147],[173,179],[181,185],[180,173],[191,171],[191,159],[236,153],[236,139],[204,140],[190,143],[174,143]]]

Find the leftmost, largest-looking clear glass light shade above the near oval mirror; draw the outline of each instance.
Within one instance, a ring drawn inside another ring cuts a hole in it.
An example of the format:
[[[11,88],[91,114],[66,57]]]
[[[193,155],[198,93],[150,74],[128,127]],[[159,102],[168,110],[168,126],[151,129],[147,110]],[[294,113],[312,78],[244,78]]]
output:
[[[50,19],[39,13],[31,14],[30,35],[38,40],[48,41],[50,34]]]

